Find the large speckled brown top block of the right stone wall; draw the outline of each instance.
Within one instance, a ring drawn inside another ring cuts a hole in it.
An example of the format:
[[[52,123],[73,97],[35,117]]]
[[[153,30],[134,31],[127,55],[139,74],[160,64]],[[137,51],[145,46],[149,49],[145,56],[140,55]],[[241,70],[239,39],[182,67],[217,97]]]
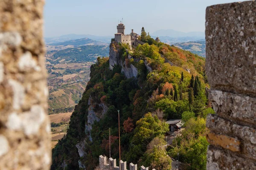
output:
[[[256,96],[256,1],[206,9],[206,73],[211,89]]]

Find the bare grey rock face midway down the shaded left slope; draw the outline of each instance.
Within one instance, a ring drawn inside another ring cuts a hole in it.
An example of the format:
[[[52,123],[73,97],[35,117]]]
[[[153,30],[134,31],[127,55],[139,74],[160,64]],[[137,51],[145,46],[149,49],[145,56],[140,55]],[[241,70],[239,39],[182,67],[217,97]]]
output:
[[[98,105],[97,111],[95,111],[95,106]],[[94,121],[99,122],[100,118],[108,111],[108,107],[104,103],[97,103],[93,100],[93,97],[90,95],[88,100],[88,116],[87,124],[85,125],[85,131],[89,133],[89,140],[92,142],[90,131],[92,130],[92,125]]]

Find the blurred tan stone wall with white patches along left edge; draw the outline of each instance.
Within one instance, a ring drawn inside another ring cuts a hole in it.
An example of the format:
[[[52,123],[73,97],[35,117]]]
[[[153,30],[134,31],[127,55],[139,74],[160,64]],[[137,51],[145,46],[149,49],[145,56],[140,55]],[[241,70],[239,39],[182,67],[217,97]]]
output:
[[[0,169],[48,170],[44,0],[0,1]]]

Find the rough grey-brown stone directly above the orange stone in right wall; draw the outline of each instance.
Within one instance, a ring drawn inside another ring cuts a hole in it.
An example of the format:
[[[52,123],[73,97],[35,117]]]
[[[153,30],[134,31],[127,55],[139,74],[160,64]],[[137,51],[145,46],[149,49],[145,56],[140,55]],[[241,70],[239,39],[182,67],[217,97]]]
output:
[[[230,121],[224,120],[216,114],[207,115],[206,119],[207,127],[212,131],[218,131],[220,134],[228,134],[232,132],[232,123]]]

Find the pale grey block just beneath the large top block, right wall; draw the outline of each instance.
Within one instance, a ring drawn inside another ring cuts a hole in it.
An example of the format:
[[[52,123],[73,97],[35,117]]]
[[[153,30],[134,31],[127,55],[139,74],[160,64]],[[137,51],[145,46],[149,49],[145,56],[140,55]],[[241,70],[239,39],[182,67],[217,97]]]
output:
[[[256,98],[211,90],[209,100],[219,116],[256,124]]]

